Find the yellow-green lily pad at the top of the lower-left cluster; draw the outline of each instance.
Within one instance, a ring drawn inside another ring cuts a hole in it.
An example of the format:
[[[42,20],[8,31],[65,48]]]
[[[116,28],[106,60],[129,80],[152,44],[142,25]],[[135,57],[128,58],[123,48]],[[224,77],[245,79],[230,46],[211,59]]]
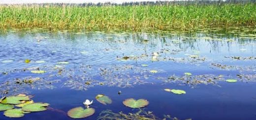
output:
[[[22,100],[29,100],[28,96],[8,96],[4,98],[1,103],[2,104],[21,104]]]

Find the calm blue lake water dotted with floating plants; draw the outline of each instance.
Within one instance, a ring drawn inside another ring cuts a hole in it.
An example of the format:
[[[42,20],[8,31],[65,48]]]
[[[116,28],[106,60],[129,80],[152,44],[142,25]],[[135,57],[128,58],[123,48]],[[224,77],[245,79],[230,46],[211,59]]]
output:
[[[58,64],[64,61],[68,64]],[[38,68],[46,73],[31,72]],[[96,120],[104,110],[138,112],[123,105],[127,98],[147,99],[143,110],[160,119],[170,115],[179,120],[256,120],[255,28],[136,33],[7,30],[0,33],[0,73],[1,96],[22,93],[50,104],[47,111],[17,120],[72,120],[67,111],[84,106],[85,99],[94,100],[91,107],[96,109],[86,120]],[[33,82],[24,83],[25,79]],[[96,101],[98,94],[109,96],[112,104]],[[16,119],[0,112],[0,120]]]

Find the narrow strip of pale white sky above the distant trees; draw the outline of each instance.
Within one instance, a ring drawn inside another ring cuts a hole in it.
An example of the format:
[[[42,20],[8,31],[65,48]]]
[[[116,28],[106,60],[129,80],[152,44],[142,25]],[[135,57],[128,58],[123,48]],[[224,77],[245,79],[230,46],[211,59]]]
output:
[[[22,3],[98,3],[98,2],[135,2],[135,1],[160,1],[160,0],[0,0],[0,4],[22,4]],[[161,0],[173,1],[173,0]]]

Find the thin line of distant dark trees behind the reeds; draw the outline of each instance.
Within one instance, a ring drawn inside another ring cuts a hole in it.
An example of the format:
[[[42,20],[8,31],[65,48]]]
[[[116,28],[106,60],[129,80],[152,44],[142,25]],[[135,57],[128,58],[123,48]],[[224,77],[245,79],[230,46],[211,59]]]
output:
[[[141,1],[141,2],[124,2],[122,4],[104,2],[104,3],[40,3],[40,4],[23,4],[25,6],[130,6],[130,5],[210,5],[210,4],[247,4],[256,3],[256,0],[179,0],[179,1]],[[1,4],[8,5],[8,4]]]

